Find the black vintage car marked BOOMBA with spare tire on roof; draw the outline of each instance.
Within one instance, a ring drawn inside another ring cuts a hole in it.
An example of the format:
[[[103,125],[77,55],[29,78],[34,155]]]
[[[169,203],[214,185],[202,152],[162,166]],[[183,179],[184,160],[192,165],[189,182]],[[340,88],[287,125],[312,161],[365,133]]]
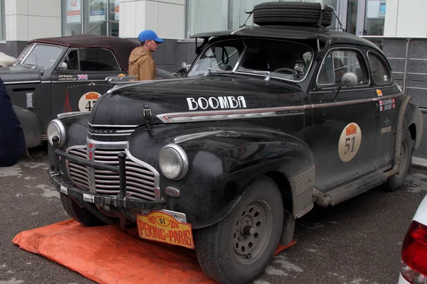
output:
[[[332,18],[317,4],[255,6],[259,26],[194,35],[187,78],[117,86],[90,114],[51,121],[49,175],[68,214],[136,224],[195,248],[211,278],[247,283],[315,204],[398,189],[421,111],[376,45],[295,26],[280,17],[292,7]]]

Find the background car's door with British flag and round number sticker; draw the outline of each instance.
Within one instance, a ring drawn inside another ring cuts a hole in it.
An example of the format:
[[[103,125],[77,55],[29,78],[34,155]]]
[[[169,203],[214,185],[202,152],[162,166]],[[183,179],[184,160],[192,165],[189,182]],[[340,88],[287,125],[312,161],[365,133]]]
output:
[[[114,54],[105,48],[73,48],[52,75],[52,114],[91,111],[93,104],[112,87],[105,77],[123,71]]]

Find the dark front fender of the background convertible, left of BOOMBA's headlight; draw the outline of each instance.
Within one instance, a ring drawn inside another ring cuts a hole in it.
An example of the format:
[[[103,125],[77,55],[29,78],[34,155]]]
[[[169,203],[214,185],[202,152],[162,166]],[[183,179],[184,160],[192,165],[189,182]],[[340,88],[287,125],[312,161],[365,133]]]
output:
[[[36,114],[28,109],[14,106],[16,116],[18,116],[23,136],[25,136],[26,148],[37,147],[41,143],[41,124]]]

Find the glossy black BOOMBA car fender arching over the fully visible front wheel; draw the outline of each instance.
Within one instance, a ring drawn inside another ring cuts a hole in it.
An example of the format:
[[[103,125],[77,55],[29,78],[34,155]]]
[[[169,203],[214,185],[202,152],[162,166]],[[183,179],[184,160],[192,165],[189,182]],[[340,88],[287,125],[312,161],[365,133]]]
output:
[[[169,209],[185,213],[194,229],[221,221],[251,183],[264,175],[278,185],[285,211],[293,217],[302,217],[313,207],[314,158],[298,138],[268,129],[238,127],[205,126],[204,130],[184,129],[179,134],[172,126],[157,126],[153,132],[137,129],[130,136],[129,151],[157,169],[164,146],[174,143],[185,151],[187,175],[169,180],[159,170],[160,187]],[[167,187],[179,190],[179,197],[168,196]]]

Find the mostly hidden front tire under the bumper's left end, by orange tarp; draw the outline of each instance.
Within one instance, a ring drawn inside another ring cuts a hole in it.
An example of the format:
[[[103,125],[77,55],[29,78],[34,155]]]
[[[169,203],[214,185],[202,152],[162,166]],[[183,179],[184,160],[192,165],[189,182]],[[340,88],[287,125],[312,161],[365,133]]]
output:
[[[83,226],[103,226],[105,222],[90,213],[88,209],[80,207],[71,197],[60,193],[60,202],[62,202],[65,211],[71,218]]]

